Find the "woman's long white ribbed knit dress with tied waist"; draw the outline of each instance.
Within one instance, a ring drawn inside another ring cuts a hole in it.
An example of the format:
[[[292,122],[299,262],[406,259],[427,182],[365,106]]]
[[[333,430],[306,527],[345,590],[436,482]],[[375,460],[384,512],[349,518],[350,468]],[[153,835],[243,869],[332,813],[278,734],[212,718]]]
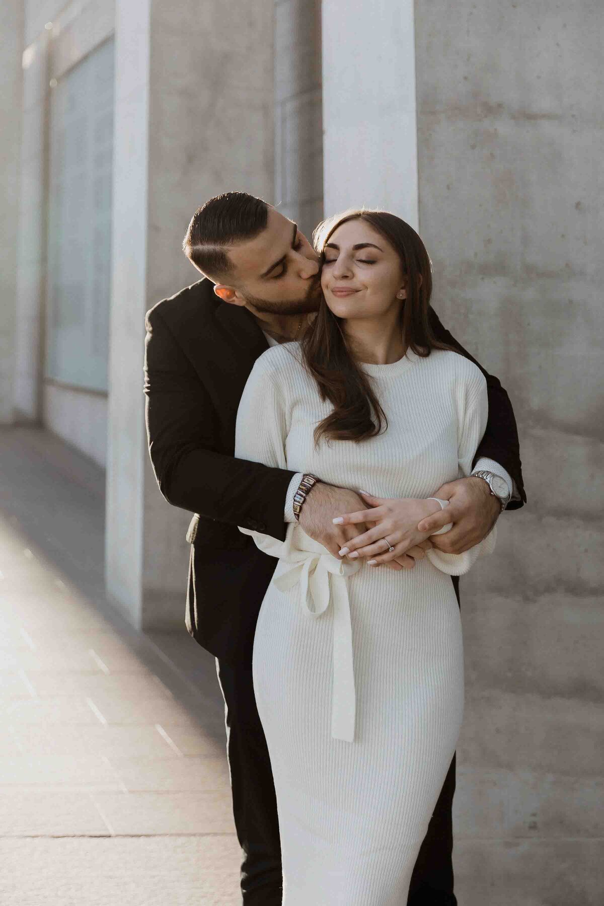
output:
[[[455,352],[363,365],[388,418],[354,443],[312,432],[331,410],[286,343],[256,361],[235,455],[385,497],[469,475],[486,384]],[[464,708],[450,574],[490,553],[428,552],[411,571],[341,561],[302,532],[254,535],[279,557],[254,639],[254,694],[273,767],[283,906],[401,906],[455,752]],[[447,574],[448,573],[448,574]]]

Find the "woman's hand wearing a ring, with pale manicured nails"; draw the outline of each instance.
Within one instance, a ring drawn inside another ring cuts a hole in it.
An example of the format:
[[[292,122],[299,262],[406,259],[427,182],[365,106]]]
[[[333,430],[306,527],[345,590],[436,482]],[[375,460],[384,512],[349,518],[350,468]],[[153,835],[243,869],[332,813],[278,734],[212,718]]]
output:
[[[347,541],[340,550],[340,556],[348,555],[351,560],[357,557],[370,557],[369,564],[372,566],[396,561],[403,569],[412,569],[416,559],[421,559],[425,551],[432,546],[427,539],[434,531],[431,529],[428,532],[420,532],[417,524],[427,516],[440,512],[440,505],[436,500],[422,500],[416,497],[398,499],[375,497],[365,491],[359,493],[371,508],[339,516],[336,525],[371,523],[372,527],[362,535]],[[384,541],[385,538],[388,538],[388,541]],[[388,551],[388,546],[394,550]],[[419,550],[415,550],[416,548]]]

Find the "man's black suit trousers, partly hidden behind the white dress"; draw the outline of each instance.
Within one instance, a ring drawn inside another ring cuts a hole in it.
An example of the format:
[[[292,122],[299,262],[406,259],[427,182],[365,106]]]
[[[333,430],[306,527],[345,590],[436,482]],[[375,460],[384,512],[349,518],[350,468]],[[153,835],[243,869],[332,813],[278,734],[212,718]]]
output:
[[[254,699],[252,666],[216,659],[225,699],[226,754],[237,839],[243,850],[241,891],[244,906],[281,906],[283,877],[273,772]],[[455,906],[453,827],[455,756],[409,886],[408,906]]]

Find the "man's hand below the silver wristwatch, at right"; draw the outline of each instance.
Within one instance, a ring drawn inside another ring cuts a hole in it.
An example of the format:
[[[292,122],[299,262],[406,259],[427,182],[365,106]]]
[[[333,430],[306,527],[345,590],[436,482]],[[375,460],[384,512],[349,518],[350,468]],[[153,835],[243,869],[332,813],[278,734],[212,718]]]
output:
[[[489,534],[501,512],[501,504],[491,494],[484,478],[458,478],[439,487],[435,494],[449,500],[446,509],[422,519],[417,531],[427,532],[430,541],[445,554],[463,554]],[[453,528],[445,535],[433,535],[448,523]]]

